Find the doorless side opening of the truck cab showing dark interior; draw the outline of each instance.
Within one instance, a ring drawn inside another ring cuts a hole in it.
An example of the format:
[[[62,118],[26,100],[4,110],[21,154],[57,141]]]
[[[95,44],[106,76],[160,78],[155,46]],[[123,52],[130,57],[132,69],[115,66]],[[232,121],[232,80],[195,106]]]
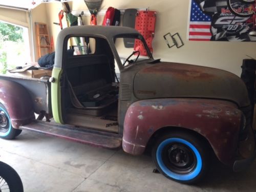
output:
[[[88,41],[85,45],[76,45],[78,38]],[[116,122],[119,84],[115,73],[117,66],[108,41],[99,37],[71,37],[67,41],[67,52],[62,64],[65,74],[63,98],[67,123],[86,126],[88,121],[77,121],[80,115],[83,119],[90,115],[93,118]],[[118,126],[95,126],[118,131]]]

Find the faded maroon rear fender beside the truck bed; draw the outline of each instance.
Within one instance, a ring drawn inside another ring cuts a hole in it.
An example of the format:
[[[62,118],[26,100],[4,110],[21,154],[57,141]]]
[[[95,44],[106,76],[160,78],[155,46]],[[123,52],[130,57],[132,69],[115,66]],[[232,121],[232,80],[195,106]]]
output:
[[[7,109],[15,129],[30,123],[35,118],[31,97],[17,82],[0,80],[0,103]]]

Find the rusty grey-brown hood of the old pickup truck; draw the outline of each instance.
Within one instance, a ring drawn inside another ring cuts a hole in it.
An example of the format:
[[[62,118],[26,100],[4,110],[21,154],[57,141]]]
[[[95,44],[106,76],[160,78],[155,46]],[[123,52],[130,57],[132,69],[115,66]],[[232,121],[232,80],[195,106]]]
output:
[[[215,68],[173,62],[147,64],[134,78],[134,95],[150,98],[212,98],[250,104],[244,82],[236,75]]]

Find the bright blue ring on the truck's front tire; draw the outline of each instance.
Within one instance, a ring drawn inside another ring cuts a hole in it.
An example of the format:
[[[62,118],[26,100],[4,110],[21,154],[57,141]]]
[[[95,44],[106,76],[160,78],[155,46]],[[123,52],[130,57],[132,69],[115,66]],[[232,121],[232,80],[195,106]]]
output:
[[[172,170],[167,168],[167,166],[164,164],[163,159],[162,159],[162,152],[163,152],[164,147],[171,143],[182,143],[182,144],[186,145],[195,154],[197,163],[196,163],[195,168],[190,173],[177,174],[175,172],[172,172]],[[157,159],[159,167],[168,177],[176,179],[176,180],[180,180],[180,181],[188,181],[188,180],[194,179],[200,174],[200,172],[202,170],[202,158],[201,158],[201,155],[200,155],[199,151],[197,150],[197,148],[190,142],[188,142],[184,139],[180,139],[180,138],[169,138],[169,139],[162,141],[157,148],[156,159]]]

